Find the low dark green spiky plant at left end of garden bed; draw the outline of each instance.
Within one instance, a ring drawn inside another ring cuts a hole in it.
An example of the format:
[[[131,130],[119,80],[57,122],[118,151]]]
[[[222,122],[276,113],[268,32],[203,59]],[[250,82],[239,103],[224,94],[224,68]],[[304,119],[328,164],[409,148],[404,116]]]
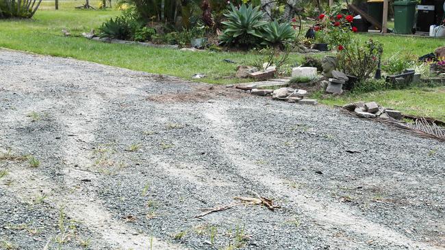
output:
[[[125,18],[117,16],[114,20],[110,18],[99,28],[101,38],[115,38],[129,40],[131,38],[131,27]]]

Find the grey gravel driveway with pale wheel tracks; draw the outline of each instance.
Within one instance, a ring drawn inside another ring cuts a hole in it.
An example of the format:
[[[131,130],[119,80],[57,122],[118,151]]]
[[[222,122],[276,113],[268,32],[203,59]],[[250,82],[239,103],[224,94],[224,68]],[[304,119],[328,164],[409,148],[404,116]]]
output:
[[[335,109],[0,50],[0,121],[5,249],[445,249],[445,143]]]

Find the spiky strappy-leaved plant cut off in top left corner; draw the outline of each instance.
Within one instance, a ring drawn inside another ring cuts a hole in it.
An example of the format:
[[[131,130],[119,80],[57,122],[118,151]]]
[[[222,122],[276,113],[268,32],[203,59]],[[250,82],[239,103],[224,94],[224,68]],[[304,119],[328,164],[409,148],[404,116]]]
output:
[[[36,13],[42,0],[1,0],[1,18],[31,18]]]

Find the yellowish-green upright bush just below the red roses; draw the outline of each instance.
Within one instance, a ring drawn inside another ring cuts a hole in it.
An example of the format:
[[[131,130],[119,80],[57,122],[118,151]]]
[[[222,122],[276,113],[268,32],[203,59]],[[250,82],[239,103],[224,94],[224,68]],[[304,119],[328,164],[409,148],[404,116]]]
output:
[[[353,41],[338,53],[338,67],[346,74],[364,81],[377,70],[382,53],[383,46],[380,42],[370,39],[363,46],[361,42]]]

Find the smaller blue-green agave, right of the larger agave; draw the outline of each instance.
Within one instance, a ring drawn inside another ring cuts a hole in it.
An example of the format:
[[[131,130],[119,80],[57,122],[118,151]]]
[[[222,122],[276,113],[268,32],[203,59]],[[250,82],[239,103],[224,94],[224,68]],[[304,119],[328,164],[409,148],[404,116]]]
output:
[[[264,45],[278,46],[283,45],[283,42],[292,40],[295,38],[295,31],[290,27],[289,23],[279,24],[276,20],[267,23],[263,27],[264,30]]]

